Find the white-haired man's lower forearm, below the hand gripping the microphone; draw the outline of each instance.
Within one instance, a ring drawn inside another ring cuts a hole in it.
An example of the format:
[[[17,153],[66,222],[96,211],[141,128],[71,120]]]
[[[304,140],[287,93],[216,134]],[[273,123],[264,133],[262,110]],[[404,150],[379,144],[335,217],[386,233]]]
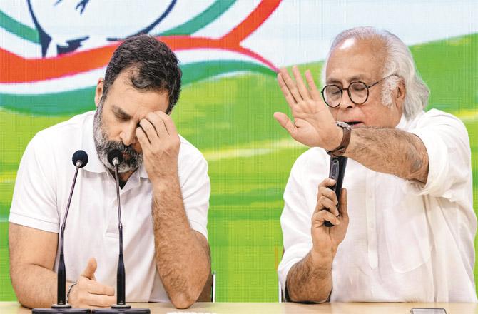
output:
[[[332,290],[332,259],[310,252],[290,268],[286,287],[294,302],[324,302]]]

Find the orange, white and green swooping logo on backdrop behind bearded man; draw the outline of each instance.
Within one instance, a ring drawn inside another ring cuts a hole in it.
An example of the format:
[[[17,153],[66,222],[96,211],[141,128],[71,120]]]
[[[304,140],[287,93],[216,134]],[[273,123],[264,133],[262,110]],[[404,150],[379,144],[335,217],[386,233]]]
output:
[[[0,47],[0,106],[42,115],[93,108],[94,85],[114,49],[142,33],[157,36],[176,52],[183,84],[238,71],[274,74],[272,62],[242,43],[279,4],[26,0],[25,14],[18,14],[23,21],[0,5],[0,27],[14,36]]]

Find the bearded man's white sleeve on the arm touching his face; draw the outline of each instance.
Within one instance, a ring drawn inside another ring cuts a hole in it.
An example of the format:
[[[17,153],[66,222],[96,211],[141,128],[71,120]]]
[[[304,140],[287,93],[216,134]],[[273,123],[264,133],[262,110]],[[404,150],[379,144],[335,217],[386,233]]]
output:
[[[191,148],[188,153],[185,153],[180,158],[179,180],[181,193],[183,194],[184,209],[186,216],[188,216],[190,227],[202,233],[207,239],[210,196],[208,162],[190,143],[181,143],[181,146],[189,146],[188,148]]]

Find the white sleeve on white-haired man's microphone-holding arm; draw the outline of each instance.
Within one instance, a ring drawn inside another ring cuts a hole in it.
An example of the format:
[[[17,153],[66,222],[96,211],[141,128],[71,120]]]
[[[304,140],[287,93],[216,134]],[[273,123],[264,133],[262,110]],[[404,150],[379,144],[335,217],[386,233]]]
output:
[[[302,179],[302,173],[307,168],[306,156],[302,154],[295,161],[284,191],[284,209],[280,216],[284,254],[278,266],[278,278],[284,290],[290,268],[302,260],[312,248],[311,213],[310,208],[307,208]]]

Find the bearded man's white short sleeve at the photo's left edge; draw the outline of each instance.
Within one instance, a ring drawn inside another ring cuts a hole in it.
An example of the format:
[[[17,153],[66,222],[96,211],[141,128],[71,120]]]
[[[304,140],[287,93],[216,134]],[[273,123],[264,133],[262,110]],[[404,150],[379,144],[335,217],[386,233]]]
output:
[[[39,135],[26,147],[16,174],[9,222],[58,233],[56,182],[46,147]]]

